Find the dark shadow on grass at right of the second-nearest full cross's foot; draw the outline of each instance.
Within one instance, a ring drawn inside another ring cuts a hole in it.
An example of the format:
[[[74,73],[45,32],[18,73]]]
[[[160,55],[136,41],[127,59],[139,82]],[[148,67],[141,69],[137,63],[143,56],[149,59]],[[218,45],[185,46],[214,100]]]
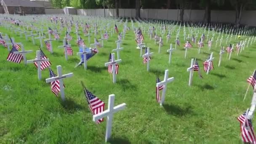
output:
[[[163,104],[163,107],[169,115],[184,116],[192,113],[191,106],[181,108],[180,106],[174,104]]]

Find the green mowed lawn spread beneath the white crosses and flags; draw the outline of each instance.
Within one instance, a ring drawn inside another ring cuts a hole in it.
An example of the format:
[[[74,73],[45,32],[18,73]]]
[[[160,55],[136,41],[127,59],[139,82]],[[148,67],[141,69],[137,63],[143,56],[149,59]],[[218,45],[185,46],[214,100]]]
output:
[[[130,22],[128,25],[131,27]],[[122,27],[120,25],[119,29],[122,30]],[[15,35],[4,27],[0,27],[0,32],[15,37],[16,42],[22,42],[25,50],[33,50],[33,53],[27,55],[27,59],[35,59],[39,40],[35,40],[36,45],[33,45],[31,40],[26,41],[24,35],[20,37],[19,32]],[[74,27],[72,32],[75,32]],[[158,45],[154,44],[154,40],[149,40],[147,32],[144,31],[143,34],[145,43],[154,52],[150,72],[147,72],[146,65],[142,63],[143,58],[136,49],[131,29],[121,44],[124,50],[120,52],[122,62],[116,84],[112,83],[104,63],[109,59],[109,52],[116,48],[117,34],[104,41],[104,48],[99,48],[99,53],[88,61],[88,70],[84,70],[83,66],[74,68],[80,61],[80,56],[76,55],[79,48],[75,43],[75,33],[72,33],[71,42],[74,55],[69,56],[68,61],[65,60],[64,50],[57,48],[62,45],[64,32],[59,42],[53,41],[53,54],[43,48],[56,74],[57,65],[61,65],[63,74],[74,73],[73,77],[64,80],[64,103],[51,92],[50,84],[45,83],[45,79],[49,77],[48,69],[42,72],[42,80],[39,81],[34,64],[25,66],[23,61],[21,64],[7,61],[8,51],[1,45],[0,143],[103,144],[106,118],[99,125],[93,122],[80,81],[106,103],[105,109],[109,94],[115,94],[115,105],[123,102],[127,104],[125,110],[114,115],[110,143],[240,143],[240,123],[237,117],[251,104],[252,88],[244,102],[243,96],[248,87],[246,80],[255,68],[255,43],[245,48],[239,56],[233,53],[230,61],[226,58],[227,53],[224,53],[221,67],[218,67],[220,47],[215,47],[215,42],[211,51],[208,51],[205,40],[205,47],[200,54],[197,52],[197,45],[192,43],[194,47],[188,50],[188,57],[184,59],[185,42],[181,28],[181,46],[173,52],[172,64],[168,64],[169,54],[166,50],[171,42],[174,46],[176,34],[173,33],[168,44],[165,40],[167,33],[165,34],[160,53]],[[218,33],[214,40],[217,36]],[[81,37],[88,45],[88,38],[83,35]],[[91,43],[93,38],[91,37]],[[241,37],[243,40],[245,38]],[[234,39],[235,35],[232,44],[236,45],[237,41]],[[226,43],[225,38],[223,43]],[[203,72],[203,61],[211,52],[215,57],[214,70],[206,75]],[[195,57],[203,79],[194,72],[192,86],[189,87],[187,68],[190,67],[191,58]],[[169,77],[175,77],[175,80],[168,84],[165,104],[161,107],[155,99],[156,75],[163,80],[165,69],[169,69]]]

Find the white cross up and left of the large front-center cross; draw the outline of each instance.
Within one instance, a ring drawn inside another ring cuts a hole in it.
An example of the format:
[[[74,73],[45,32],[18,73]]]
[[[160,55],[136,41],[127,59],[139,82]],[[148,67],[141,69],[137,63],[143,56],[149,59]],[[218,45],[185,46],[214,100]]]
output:
[[[59,80],[59,88],[60,88],[60,91],[61,91],[61,99],[62,99],[62,101],[65,101],[63,79],[67,78],[67,77],[72,77],[73,72],[62,75],[62,69],[61,69],[60,65],[57,66],[57,72],[58,72],[58,76],[47,78],[47,79],[45,79],[45,81],[46,81],[46,83],[51,83],[53,81]]]

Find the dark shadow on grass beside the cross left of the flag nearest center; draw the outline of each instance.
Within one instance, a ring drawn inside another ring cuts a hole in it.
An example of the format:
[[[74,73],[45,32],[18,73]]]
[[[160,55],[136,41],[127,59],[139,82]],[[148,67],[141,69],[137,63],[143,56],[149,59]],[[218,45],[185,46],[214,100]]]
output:
[[[75,111],[80,110],[80,109],[85,109],[85,107],[83,107],[80,104],[77,104],[72,99],[65,99],[65,101],[62,101],[60,99],[60,101],[61,101],[62,107],[64,107],[70,113],[74,113]]]

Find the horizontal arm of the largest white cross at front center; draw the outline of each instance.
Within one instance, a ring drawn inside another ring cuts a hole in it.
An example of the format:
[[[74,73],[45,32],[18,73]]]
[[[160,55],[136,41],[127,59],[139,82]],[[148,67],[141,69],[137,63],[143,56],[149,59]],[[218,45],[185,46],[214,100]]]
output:
[[[109,113],[114,114],[114,113],[116,113],[116,112],[118,112],[120,110],[125,109],[125,107],[126,107],[126,104],[123,103],[123,104],[119,104],[118,106],[115,106],[114,110],[112,110],[112,112],[109,112],[109,109],[108,109],[108,110],[106,110],[104,112],[101,112],[99,114],[93,115],[93,121],[96,122],[97,120],[99,120],[99,119],[101,119],[103,117],[107,117],[109,115]]]

